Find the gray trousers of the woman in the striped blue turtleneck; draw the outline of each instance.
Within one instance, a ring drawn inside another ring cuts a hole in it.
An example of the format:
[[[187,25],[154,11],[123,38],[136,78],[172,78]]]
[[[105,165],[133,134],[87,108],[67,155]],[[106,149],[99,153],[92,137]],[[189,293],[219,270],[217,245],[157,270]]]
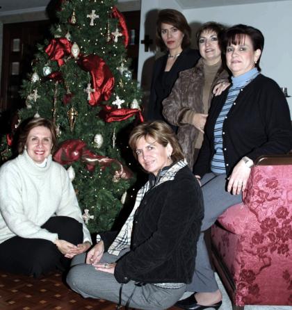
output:
[[[202,233],[197,241],[195,273],[192,283],[186,286],[186,291],[211,293],[218,290],[218,284],[206,250],[204,231],[209,229],[229,206],[242,202],[242,195],[231,195],[225,190],[226,174],[205,174],[201,183],[204,198],[204,219]]]

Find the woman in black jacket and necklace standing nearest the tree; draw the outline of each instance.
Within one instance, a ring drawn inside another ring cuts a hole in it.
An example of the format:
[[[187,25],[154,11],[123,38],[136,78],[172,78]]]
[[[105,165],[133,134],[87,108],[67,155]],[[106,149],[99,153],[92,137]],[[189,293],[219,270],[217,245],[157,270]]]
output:
[[[172,90],[179,72],[193,67],[200,58],[197,49],[190,49],[191,29],[186,17],[177,10],[159,11],[156,22],[156,41],[164,56],[154,63],[147,120],[165,120],[162,101]],[[175,129],[172,126],[172,129]]]

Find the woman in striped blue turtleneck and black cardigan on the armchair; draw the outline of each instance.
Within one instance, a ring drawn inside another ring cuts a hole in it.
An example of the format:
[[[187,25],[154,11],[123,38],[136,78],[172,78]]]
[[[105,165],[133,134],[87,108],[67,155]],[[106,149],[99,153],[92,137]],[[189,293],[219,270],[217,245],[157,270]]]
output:
[[[197,179],[202,178],[202,231],[229,206],[242,202],[239,194],[246,188],[257,157],[285,154],[292,148],[291,117],[284,94],[275,81],[259,73],[263,42],[261,31],[251,26],[232,26],[225,33],[222,51],[232,72],[232,85],[212,101],[194,168]],[[177,303],[182,309],[218,309],[222,304],[202,235],[187,291],[197,293]]]

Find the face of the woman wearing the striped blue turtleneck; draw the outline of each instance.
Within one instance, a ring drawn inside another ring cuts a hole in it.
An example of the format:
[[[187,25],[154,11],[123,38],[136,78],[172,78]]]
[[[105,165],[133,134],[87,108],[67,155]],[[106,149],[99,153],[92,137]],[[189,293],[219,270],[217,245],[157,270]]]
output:
[[[233,76],[240,76],[252,70],[261,55],[261,50],[254,51],[252,40],[244,35],[237,44],[229,44],[226,48],[226,64]]]

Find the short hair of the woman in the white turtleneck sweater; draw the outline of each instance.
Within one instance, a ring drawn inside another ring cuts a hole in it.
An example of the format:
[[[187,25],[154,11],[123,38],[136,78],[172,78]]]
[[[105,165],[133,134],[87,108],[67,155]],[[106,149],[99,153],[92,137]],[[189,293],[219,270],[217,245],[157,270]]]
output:
[[[27,137],[31,132],[31,129],[42,126],[46,127],[51,131],[51,142],[53,142],[53,147],[51,149],[51,153],[54,153],[54,149],[56,147],[56,127],[53,122],[47,120],[46,118],[42,117],[30,117],[29,119],[24,120],[19,125],[19,134],[18,134],[18,141],[17,141],[17,152],[18,154],[22,154],[24,152],[24,146],[26,145]]]

